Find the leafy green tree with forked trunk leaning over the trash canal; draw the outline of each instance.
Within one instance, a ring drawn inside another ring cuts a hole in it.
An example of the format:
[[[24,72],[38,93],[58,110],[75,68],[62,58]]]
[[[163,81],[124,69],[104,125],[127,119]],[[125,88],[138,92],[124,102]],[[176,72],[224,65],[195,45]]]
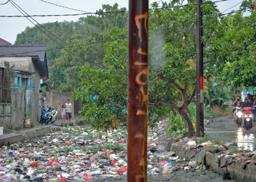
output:
[[[188,1],[188,4],[195,4]],[[162,7],[180,5],[182,1],[163,3]],[[178,112],[188,126],[190,136],[194,136],[194,127],[187,114],[187,107],[194,99],[196,90],[196,72],[191,66],[196,56],[196,28],[191,23],[196,17],[195,6],[183,8],[158,8],[158,3],[151,4],[155,10],[150,12],[150,67],[149,67],[149,118],[150,126],[161,116]],[[214,4],[204,4],[206,16],[219,14]],[[205,20],[202,40],[209,43],[215,31],[217,18]],[[181,25],[174,26],[173,25]],[[183,24],[183,25],[182,25]],[[171,27],[171,28],[168,28]],[[164,29],[164,30],[161,30]],[[127,36],[127,30],[113,28],[105,37],[121,38]],[[104,69],[84,66],[79,72],[80,88],[74,98],[82,102],[80,114],[87,122],[93,122],[100,128],[110,121],[118,120],[126,124],[127,110],[127,39],[108,41],[104,44]],[[97,97],[91,99],[91,97]],[[177,97],[182,98],[178,106]]]

